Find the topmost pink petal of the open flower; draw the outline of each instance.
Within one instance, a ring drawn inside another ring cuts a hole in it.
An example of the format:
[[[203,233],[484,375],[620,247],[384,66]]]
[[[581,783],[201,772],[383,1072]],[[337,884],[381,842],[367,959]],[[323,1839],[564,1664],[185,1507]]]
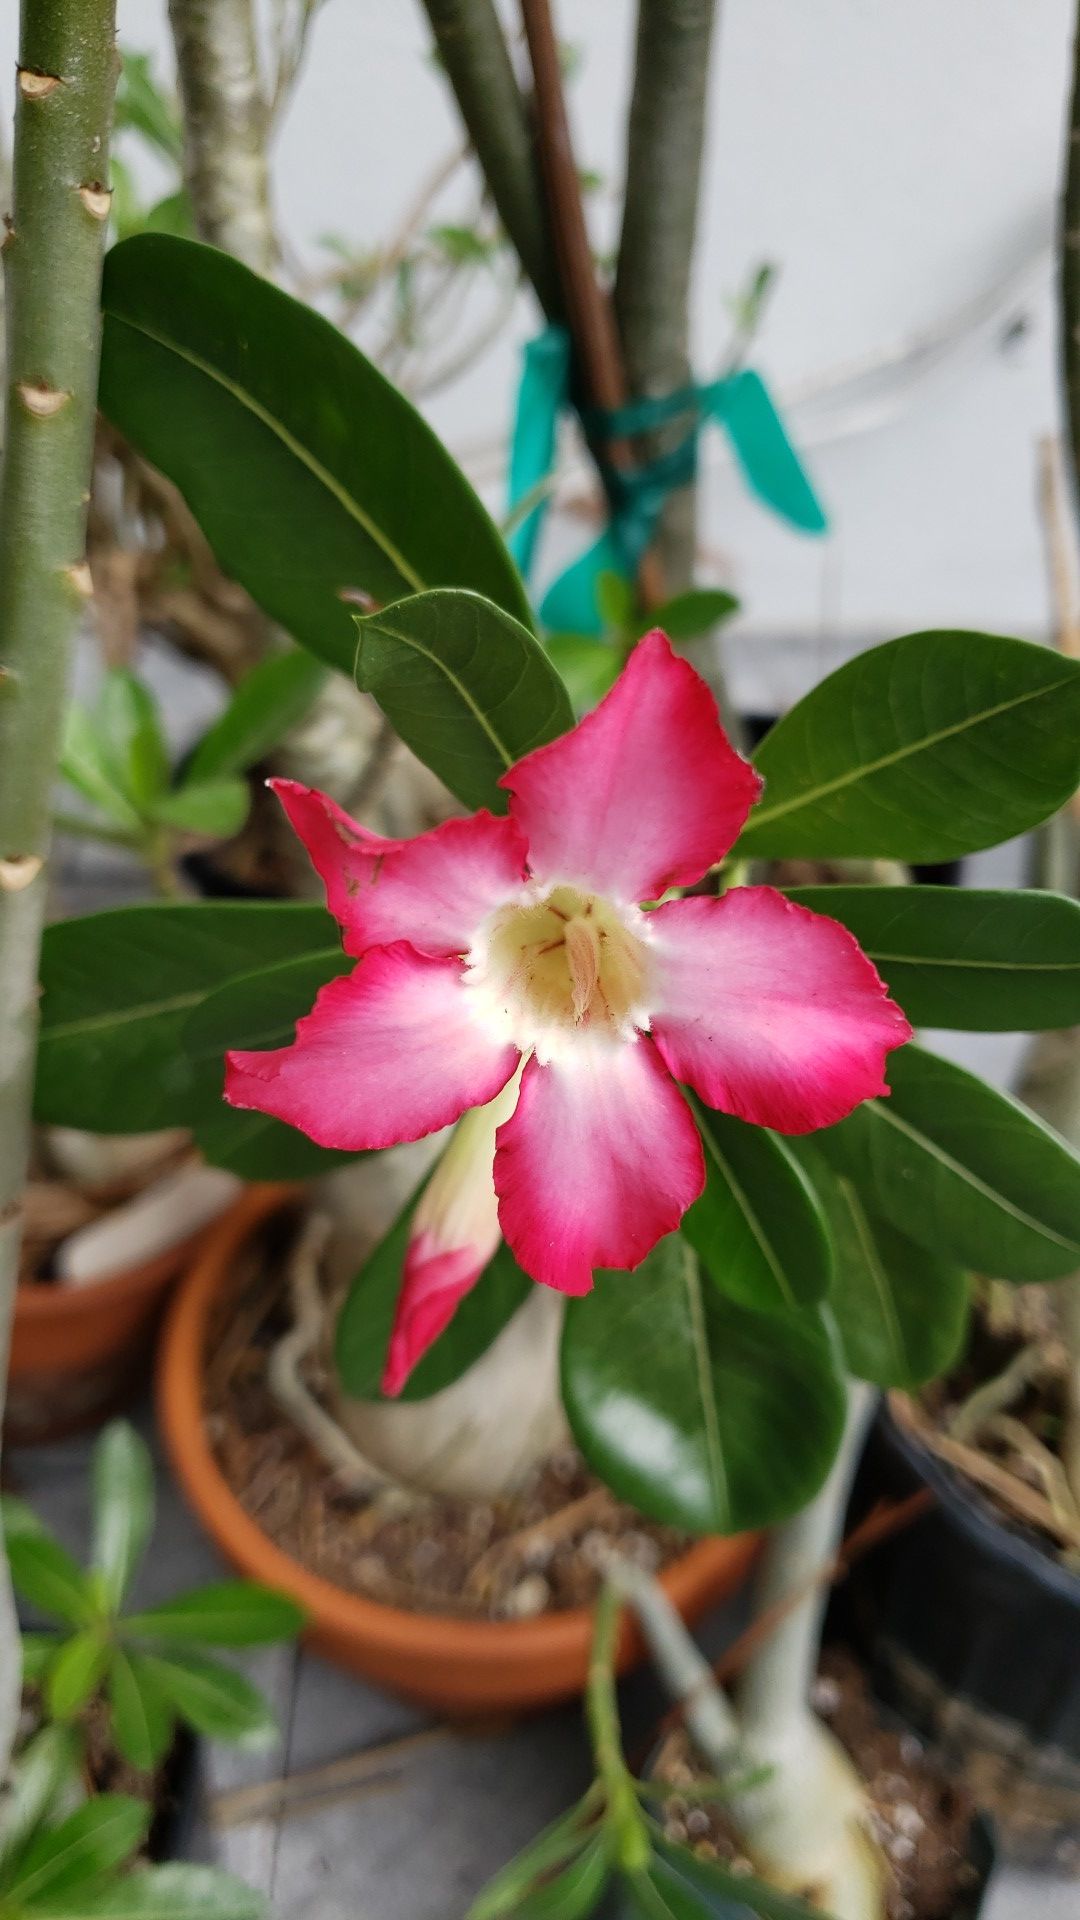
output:
[[[728,743],[701,676],[655,630],[600,707],[500,785],[538,881],[628,902],[701,879],[738,839],[761,778]]]

